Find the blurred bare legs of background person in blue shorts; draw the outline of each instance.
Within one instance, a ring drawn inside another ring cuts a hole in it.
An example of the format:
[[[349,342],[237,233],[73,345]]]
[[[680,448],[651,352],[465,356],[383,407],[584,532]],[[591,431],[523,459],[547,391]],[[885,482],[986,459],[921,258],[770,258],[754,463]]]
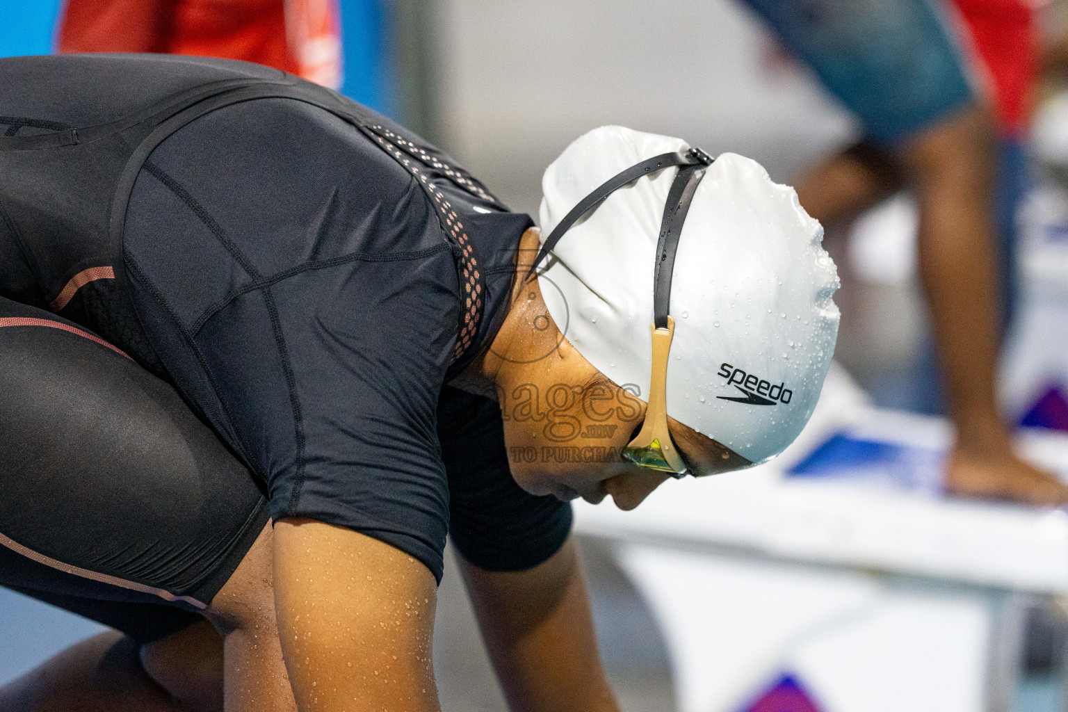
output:
[[[930,306],[957,443],[951,492],[1032,504],[1068,502],[1068,488],[1016,457],[994,374],[1000,342],[993,234],[993,129],[973,107],[892,154],[858,146],[799,181],[822,222],[850,219],[901,185],[920,203],[920,272]]]

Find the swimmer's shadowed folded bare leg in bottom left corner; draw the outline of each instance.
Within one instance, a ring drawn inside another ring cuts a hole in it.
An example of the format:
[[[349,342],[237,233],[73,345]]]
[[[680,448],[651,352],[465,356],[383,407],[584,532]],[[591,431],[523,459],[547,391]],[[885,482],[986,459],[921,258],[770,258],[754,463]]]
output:
[[[180,660],[174,654],[178,651]],[[167,686],[170,682],[173,687]],[[221,712],[221,638],[207,621],[146,646],[108,631],[0,687],[0,712],[70,710]]]

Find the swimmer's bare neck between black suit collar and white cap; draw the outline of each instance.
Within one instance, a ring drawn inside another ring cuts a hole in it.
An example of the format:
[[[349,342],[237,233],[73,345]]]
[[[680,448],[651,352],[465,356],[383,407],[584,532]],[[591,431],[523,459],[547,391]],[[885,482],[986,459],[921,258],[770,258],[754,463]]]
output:
[[[525,279],[540,247],[539,235],[531,227],[519,239],[508,314],[489,348],[450,385],[497,400],[516,385],[540,381],[547,368],[572,350],[541,299],[538,281]]]

